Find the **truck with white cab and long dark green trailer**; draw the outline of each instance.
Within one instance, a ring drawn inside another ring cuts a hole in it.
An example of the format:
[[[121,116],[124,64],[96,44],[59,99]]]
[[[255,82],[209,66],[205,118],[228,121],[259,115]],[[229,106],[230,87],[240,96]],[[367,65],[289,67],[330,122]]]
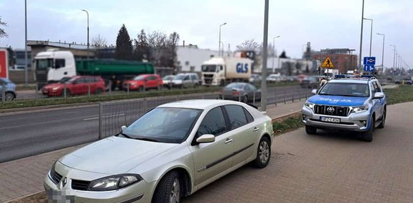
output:
[[[75,60],[72,52],[49,50],[34,57],[39,88],[71,76],[101,76],[107,89],[122,88],[123,80],[141,74],[154,74],[151,63],[109,59]]]

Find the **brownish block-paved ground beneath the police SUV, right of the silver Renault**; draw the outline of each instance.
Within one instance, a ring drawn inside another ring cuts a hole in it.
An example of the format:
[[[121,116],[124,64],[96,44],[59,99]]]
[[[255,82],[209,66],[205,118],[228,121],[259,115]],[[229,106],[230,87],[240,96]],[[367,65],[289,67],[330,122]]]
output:
[[[185,203],[412,203],[413,102],[387,110],[373,142],[300,128],[274,139],[266,168],[246,165]]]

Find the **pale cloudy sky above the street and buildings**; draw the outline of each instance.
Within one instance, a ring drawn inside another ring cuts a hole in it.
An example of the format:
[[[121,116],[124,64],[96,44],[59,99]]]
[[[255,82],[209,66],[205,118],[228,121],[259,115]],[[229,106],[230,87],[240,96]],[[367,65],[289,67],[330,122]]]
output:
[[[28,39],[86,43],[89,11],[90,39],[100,34],[116,44],[122,24],[131,38],[141,29],[171,33],[180,44],[218,50],[219,25],[225,50],[247,39],[263,42],[265,0],[28,0]],[[313,50],[350,48],[358,55],[362,0],[269,0],[268,42],[287,56],[300,58],[303,45]],[[0,47],[24,48],[24,0],[0,0],[0,17],[8,38]],[[372,18],[372,56],[393,65],[395,45],[413,67],[413,0],[365,0],[364,17]],[[364,21],[362,56],[369,55],[370,21]]]

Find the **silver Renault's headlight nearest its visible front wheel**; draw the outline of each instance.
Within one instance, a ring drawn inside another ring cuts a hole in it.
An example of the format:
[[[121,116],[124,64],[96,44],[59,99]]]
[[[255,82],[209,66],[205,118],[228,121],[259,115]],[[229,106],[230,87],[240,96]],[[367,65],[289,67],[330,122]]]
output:
[[[119,188],[127,187],[131,184],[137,183],[141,180],[143,180],[143,178],[137,174],[121,174],[116,176],[110,176],[91,181],[88,190],[117,190]]]

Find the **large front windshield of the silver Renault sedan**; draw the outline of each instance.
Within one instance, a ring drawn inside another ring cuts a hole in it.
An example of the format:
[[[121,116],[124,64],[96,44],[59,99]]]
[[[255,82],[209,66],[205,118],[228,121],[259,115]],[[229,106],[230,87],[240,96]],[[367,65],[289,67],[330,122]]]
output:
[[[125,136],[154,142],[181,143],[202,110],[155,108],[123,130]]]

